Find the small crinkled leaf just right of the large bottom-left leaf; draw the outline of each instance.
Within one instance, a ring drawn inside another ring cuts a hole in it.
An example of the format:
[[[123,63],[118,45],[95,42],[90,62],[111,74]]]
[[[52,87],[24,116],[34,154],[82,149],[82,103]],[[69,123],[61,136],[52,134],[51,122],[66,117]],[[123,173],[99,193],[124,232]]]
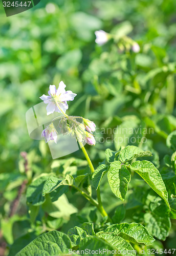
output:
[[[86,232],[80,227],[74,227],[69,229],[68,236],[72,241],[72,246],[79,245],[82,239],[86,238]]]

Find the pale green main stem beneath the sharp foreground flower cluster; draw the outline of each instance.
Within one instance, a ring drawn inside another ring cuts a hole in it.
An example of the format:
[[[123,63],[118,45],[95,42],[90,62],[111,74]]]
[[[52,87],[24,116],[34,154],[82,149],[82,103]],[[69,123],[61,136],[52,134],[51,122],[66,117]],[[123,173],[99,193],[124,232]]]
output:
[[[82,152],[84,153],[84,156],[89,164],[89,167],[91,169],[91,173],[93,174],[95,169],[94,169],[94,166],[92,164],[92,161],[89,157],[89,155],[87,154],[86,150],[85,150],[85,147],[83,146],[82,142],[79,142],[79,145],[81,147],[81,150]],[[100,187],[98,187],[97,189],[97,199],[98,199],[98,205],[97,206],[97,209],[100,211],[100,214],[103,216],[103,217],[108,217],[107,215],[107,212],[105,211],[105,209],[103,208],[103,205],[102,205],[102,202],[101,202],[101,196],[100,196]],[[111,219],[108,217],[108,221],[111,221]]]

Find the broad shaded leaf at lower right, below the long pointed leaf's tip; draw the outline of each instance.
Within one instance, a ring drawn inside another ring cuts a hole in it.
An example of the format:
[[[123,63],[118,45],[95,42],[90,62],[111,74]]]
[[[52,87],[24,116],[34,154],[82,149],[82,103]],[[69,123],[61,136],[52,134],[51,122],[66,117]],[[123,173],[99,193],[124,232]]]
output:
[[[144,215],[144,222],[146,223],[145,226],[147,230],[152,236],[160,240],[165,240],[166,237],[168,237],[171,227],[169,217],[161,217],[151,211]]]

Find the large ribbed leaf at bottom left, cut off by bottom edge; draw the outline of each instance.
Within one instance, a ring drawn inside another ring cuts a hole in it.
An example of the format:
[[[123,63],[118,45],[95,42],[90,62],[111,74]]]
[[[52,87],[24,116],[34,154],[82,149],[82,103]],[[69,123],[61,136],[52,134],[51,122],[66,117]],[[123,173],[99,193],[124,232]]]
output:
[[[56,256],[69,253],[71,248],[71,240],[67,234],[59,231],[50,231],[34,239],[25,248],[20,250],[16,256]]]

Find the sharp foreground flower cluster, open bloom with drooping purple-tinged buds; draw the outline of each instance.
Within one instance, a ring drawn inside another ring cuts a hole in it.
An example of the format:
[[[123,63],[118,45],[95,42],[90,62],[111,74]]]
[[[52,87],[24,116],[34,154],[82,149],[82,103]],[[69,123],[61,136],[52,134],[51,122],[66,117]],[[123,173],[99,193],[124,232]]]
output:
[[[61,134],[71,135],[76,138],[78,142],[86,142],[89,145],[95,145],[96,141],[94,135],[95,132],[95,123],[89,119],[83,117],[68,116],[65,114],[65,111],[69,108],[67,101],[73,100],[76,96],[72,91],[65,92],[65,84],[61,81],[59,83],[59,88],[56,90],[55,86],[50,86],[49,96],[42,95],[40,98],[47,105],[47,115],[53,113],[54,111],[60,112],[63,114],[62,117],[56,117],[53,119],[59,119],[58,127]],[[82,120],[79,122],[78,120]],[[42,131],[41,136],[45,137],[46,143],[50,140],[54,140],[57,143],[57,131],[54,127],[53,121],[50,125]]]

